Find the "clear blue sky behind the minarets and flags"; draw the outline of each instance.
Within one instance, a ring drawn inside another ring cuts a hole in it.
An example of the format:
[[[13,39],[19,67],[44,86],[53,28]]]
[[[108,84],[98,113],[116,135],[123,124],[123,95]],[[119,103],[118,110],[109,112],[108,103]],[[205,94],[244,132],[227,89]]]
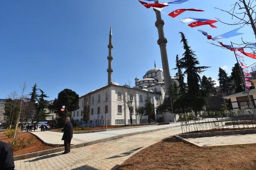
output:
[[[164,2],[164,1],[160,1]],[[214,7],[229,9],[233,0],[190,0],[171,5],[163,11],[179,8],[196,8],[205,12],[184,12],[178,19],[187,17],[231,18]],[[235,63],[234,53],[214,47],[198,31],[162,15],[164,31],[168,39],[167,51],[171,76],[175,71],[176,54],[184,50],[180,43],[182,31],[191,48],[196,51],[201,65],[211,66],[203,75],[218,79],[218,68],[224,67],[228,74]],[[53,100],[58,92],[70,88],[80,96],[92,89],[106,85],[108,67],[108,34],[113,27],[113,79],[120,85],[134,78],[142,78],[147,70],[162,67],[158,32],[154,23],[155,13],[136,0],[2,0],[0,1],[0,98],[17,90],[20,84],[37,83]],[[215,23],[217,29],[208,25],[198,27],[213,36],[230,31],[236,26]],[[249,26],[240,29],[244,39],[255,42]],[[223,39],[239,42],[240,36]],[[208,41],[210,42],[210,41]],[[247,64],[255,60],[246,58]]]

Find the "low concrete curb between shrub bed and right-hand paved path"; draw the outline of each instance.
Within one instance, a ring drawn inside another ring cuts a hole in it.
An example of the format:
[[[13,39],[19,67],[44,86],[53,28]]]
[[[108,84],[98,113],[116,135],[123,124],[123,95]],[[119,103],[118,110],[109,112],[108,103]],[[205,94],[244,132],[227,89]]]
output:
[[[206,133],[190,133],[179,135],[182,138],[196,138],[196,137],[213,137],[224,135],[242,135],[256,133],[256,129],[236,130],[236,131],[220,131],[220,132],[206,132]]]

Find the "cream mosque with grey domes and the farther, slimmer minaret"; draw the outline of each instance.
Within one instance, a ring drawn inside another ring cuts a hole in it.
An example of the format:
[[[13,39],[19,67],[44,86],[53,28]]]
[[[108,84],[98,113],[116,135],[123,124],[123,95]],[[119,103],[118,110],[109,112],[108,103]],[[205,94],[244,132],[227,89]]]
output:
[[[86,127],[103,125],[104,119],[108,125],[126,125],[130,124],[130,111],[125,100],[127,96],[134,96],[132,101],[132,124],[147,123],[148,116],[144,115],[142,119],[136,115],[136,107],[144,107],[144,101],[148,95],[156,108],[164,101],[166,89],[164,84],[164,72],[162,68],[148,70],[143,79],[135,78],[135,86],[130,87],[125,84],[121,86],[117,82],[112,82],[112,27],[110,27],[109,44],[108,44],[108,85],[92,90],[88,94],[79,98],[79,109],[72,112],[72,118],[80,120]],[[178,85],[178,77],[172,77]],[[154,111],[154,121],[161,119],[160,115]],[[174,115],[166,114],[166,122],[174,122]]]

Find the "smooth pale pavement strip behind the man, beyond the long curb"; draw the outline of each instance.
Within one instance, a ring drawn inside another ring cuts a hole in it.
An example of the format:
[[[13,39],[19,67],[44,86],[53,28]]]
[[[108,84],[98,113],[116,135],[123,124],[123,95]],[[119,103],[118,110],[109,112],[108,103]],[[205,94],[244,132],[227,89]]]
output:
[[[124,134],[132,134],[136,132],[171,128],[177,125],[179,126],[180,123],[171,123],[168,125],[160,125],[160,126],[144,126],[144,127],[130,128],[130,129],[118,129],[118,130],[95,132],[95,133],[73,134],[71,144],[86,143],[86,142],[96,141],[99,139],[106,139],[109,137],[114,137],[114,136],[124,135]],[[43,131],[43,132],[36,131],[32,133],[48,144],[63,145],[63,141],[61,140],[63,133],[52,132],[52,131]]]

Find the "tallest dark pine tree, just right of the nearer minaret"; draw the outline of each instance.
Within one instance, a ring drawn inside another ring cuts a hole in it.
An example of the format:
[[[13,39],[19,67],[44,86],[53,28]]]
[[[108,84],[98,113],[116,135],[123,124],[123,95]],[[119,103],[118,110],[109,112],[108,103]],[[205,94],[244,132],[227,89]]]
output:
[[[182,38],[180,42],[183,42],[183,48],[185,50],[183,58],[180,59],[180,66],[185,69],[184,74],[187,75],[188,92],[186,94],[186,100],[197,116],[197,112],[204,106],[204,98],[200,91],[199,82],[201,81],[201,78],[199,74],[209,67],[197,66],[200,63],[196,58],[196,54],[190,49],[190,46],[188,46],[188,41],[185,38],[185,35],[182,32],[180,32],[180,35]]]

